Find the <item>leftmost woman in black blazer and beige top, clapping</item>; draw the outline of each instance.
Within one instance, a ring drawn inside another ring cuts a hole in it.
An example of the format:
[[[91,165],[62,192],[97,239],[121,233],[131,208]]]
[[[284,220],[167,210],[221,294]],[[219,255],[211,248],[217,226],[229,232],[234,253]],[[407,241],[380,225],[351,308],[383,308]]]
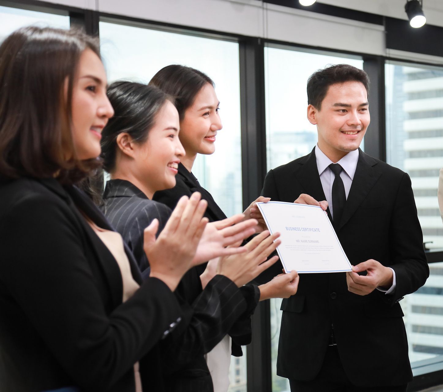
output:
[[[73,185],[100,164],[113,115],[96,40],[19,29],[0,46],[0,88],[0,390],[146,392],[146,354],[184,316],[172,291],[195,262],[206,202],[183,199],[158,240],[147,229],[143,281]]]

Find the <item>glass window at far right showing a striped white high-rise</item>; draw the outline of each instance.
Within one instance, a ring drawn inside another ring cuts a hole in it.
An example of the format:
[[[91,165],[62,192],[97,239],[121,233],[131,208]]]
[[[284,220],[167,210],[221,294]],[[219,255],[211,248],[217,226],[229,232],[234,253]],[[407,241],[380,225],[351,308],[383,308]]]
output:
[[[443,248],[437,201],[443,167],[443,68],[388,63],[387,162],[411,177],[427,248]],[[443,250],[443,249],[442,249]],[[443,263],[430,264],[424,287],[401,302],[411,362],[443,354]]]

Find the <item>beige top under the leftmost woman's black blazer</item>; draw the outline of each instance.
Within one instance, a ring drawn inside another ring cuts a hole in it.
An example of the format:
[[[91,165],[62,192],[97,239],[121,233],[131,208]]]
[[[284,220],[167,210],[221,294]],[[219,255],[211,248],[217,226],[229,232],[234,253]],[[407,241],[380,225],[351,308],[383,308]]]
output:
[[[134,280],[131,273],[131,266],[129,265],[128,256],[124,252],[123,238],[120,233],[115,231],[105,230],[98,227],[88,217],[85,217],[86,221],[92,227],[97,236],[112,253],[118,266],[120,267],[121,278],[123,280],[123,302],[136,292],[140,285]],[[141,379],[139,372],[139,363],[134,365],[134,376],[136,381],[136,392],[143,392],[141,387]]]

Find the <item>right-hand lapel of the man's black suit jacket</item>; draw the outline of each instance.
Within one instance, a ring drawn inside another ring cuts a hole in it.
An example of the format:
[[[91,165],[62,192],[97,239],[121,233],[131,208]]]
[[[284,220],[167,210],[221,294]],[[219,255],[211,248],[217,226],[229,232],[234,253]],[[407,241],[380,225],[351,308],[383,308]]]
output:
[[[365,200],[369,191],[381,176],[381,173],[374,169],[377,161],[358,149],[358,163],[355,170],[354,179],[352,180],[351,189],[349,190],[346,200],[345,209],[343,210],[342,220],[338,226],[340,230],[343,225],[354,215],[355,211]]]

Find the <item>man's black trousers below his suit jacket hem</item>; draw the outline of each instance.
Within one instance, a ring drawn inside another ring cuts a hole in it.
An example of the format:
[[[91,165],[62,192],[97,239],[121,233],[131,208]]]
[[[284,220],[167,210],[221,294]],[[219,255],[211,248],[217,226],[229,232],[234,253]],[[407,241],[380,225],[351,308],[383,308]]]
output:
[[[365,371],[365,369],[361,369]],[[408,384],[358,387],[353,385],[342,366],[337,346],[328,346],[319,374],[311,381],[289,379],[291,392],[406,392]]]

